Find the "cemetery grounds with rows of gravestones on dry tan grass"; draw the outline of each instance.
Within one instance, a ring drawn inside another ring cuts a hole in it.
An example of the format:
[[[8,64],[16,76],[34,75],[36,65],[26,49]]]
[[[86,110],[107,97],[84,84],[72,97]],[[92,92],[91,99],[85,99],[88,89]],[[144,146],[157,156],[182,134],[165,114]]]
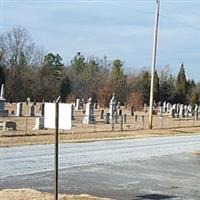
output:
[[[134,111],[133,107],[121,106],[114,93],[107,108],[101,108],[92,98],[75,99],[72,103],[59,105],[59,113],[63,117],[62,125],[59,125],[60,134],[121,132],[126,136],[131,131],[148,129],[148,109]],[[53,135],[54,108],[55,103],[33,103],[29,98],[26,102],[8,103],[1,92],[1,136]],[[154,104],[154,111],[154,130],[200,126],[199,105],[172,105],[165,101]]]

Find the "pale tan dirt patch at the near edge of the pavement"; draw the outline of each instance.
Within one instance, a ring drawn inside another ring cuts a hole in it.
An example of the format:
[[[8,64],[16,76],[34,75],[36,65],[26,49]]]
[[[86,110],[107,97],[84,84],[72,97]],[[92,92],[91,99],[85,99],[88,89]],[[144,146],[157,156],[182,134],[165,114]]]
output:
[[[53,194],[39,192],[32,189],[4,189],[0,191],[1,200],[53,200]],[[90,195],[65,195],[60,194],[59,200],[109,200],[92,197]]]

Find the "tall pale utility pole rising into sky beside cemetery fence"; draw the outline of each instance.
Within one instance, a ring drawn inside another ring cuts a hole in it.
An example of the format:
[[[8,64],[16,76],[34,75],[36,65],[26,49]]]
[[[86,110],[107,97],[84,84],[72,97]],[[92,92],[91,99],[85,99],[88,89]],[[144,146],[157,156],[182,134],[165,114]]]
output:
[[[157,4],[157,8],[156,8],[155,27],[154,27],[152,68],[151,68],[151,91],[150,91],[150,103],[149,103],[149,129],[153,128],[154,74],[155,74],[155,68],[156,68],[160,0],[156,0],[156,4]]]

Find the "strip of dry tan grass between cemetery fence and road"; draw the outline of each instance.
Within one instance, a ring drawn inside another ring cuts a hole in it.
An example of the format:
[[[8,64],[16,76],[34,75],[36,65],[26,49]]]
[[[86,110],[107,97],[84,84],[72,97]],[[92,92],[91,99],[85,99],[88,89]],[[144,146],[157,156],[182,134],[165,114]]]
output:
[[[130,131],[98,131],[98,132],[73,132],[60,133],[60,143],[80,143],[93,142],[101,140],[121,140],[144,137],[162,137],[162,136],[182,136],[182,135],[200,135],[200,127],[178,128],[178,129],[155,129],[155,130],[130,130]],[[28,135],[0,135],[0,146],[20,146],[34,144],[53,144],[54,133],[28,134]]]

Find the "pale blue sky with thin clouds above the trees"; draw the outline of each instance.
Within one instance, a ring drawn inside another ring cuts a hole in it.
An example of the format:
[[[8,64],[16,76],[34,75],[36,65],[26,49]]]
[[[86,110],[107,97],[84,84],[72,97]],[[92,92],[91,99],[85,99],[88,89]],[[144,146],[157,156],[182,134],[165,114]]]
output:
[[[0,31],[26,28],[68,64],[85,57],[121,59],[126,71],[151,66],[155,0],[0,0]],[[176,75],[181,63],[200,81],[200,0],[161,0],[157,69]]]

